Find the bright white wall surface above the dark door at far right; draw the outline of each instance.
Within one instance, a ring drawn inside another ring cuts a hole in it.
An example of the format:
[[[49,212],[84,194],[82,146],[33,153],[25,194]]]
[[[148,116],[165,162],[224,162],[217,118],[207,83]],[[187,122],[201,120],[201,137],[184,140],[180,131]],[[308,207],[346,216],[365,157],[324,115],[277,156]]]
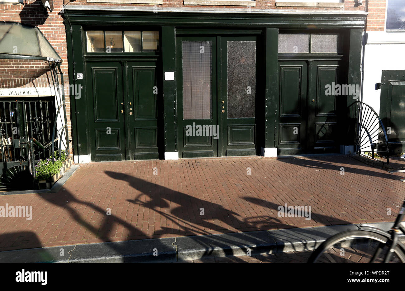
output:
[[[405,70],[405,32],[367,32],[367,44],[364,47],[364,75],[362,101],[379,114],[380,83],[382,71]]]

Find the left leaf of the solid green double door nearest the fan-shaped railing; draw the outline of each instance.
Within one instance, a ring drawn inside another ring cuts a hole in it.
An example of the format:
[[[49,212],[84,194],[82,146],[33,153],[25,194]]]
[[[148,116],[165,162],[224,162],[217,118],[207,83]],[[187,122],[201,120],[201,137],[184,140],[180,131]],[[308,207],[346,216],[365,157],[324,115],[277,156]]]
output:
[[[278,154],[301,154],[307,131],[307,63],[279,62],[279,84]]]

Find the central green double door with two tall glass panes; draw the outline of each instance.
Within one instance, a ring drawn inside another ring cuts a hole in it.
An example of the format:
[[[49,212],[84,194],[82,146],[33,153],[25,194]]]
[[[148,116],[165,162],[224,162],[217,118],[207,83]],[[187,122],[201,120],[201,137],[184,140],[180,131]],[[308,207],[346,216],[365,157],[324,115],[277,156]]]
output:
[[[177,37],[179,156],[258,153],[256,36]]]

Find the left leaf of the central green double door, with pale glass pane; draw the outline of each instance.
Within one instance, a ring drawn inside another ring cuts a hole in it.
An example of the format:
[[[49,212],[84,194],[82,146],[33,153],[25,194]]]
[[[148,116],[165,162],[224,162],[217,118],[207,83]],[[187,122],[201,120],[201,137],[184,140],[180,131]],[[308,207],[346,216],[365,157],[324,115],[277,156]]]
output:
[[[217,156],[216,45],[215,37],[177,39],[178,145],[183,158]]]

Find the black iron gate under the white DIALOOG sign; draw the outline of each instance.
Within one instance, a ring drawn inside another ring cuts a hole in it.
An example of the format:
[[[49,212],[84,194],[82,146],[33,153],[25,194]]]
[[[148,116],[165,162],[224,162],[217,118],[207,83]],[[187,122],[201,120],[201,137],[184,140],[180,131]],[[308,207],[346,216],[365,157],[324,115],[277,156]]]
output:
[[[25,183],[32,189],[32,175],[29,165],[30,139],[42,144],[52,141],[55,122],[55,104],[49,100],[0,101],[0,190],[21,189]],[[51,148],[42,150],[34,144],[31,160],[47,158]],[[14,185],[18,183],[18,185]],[[18,186],[18,187],[15,187]]]

